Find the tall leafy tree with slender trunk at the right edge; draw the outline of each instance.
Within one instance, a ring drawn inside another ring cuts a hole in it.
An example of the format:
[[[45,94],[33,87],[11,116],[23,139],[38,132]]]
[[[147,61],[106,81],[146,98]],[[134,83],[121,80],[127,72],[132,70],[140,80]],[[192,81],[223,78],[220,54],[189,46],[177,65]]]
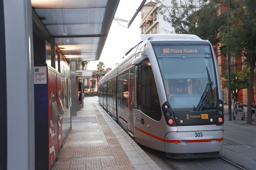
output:
[[[247,124],[251,120],[251,98],[256,64],[256,1],[255,0],[229,0],[230,6],[230,31],[223,26],[220,32],[222,43],[230,46],[234,57],[244,57],[249,63],[250,81],[248,88]],[[229,37],[228,37],[229,35]],[[227,51],[226,48],[224,48]]]

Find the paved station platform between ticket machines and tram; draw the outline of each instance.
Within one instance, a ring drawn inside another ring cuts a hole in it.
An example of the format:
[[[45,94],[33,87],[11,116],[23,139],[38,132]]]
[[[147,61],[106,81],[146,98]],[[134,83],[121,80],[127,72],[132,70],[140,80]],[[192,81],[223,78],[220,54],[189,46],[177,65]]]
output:
[[[53,170],[160,170],[98,104],[84,99]]]

